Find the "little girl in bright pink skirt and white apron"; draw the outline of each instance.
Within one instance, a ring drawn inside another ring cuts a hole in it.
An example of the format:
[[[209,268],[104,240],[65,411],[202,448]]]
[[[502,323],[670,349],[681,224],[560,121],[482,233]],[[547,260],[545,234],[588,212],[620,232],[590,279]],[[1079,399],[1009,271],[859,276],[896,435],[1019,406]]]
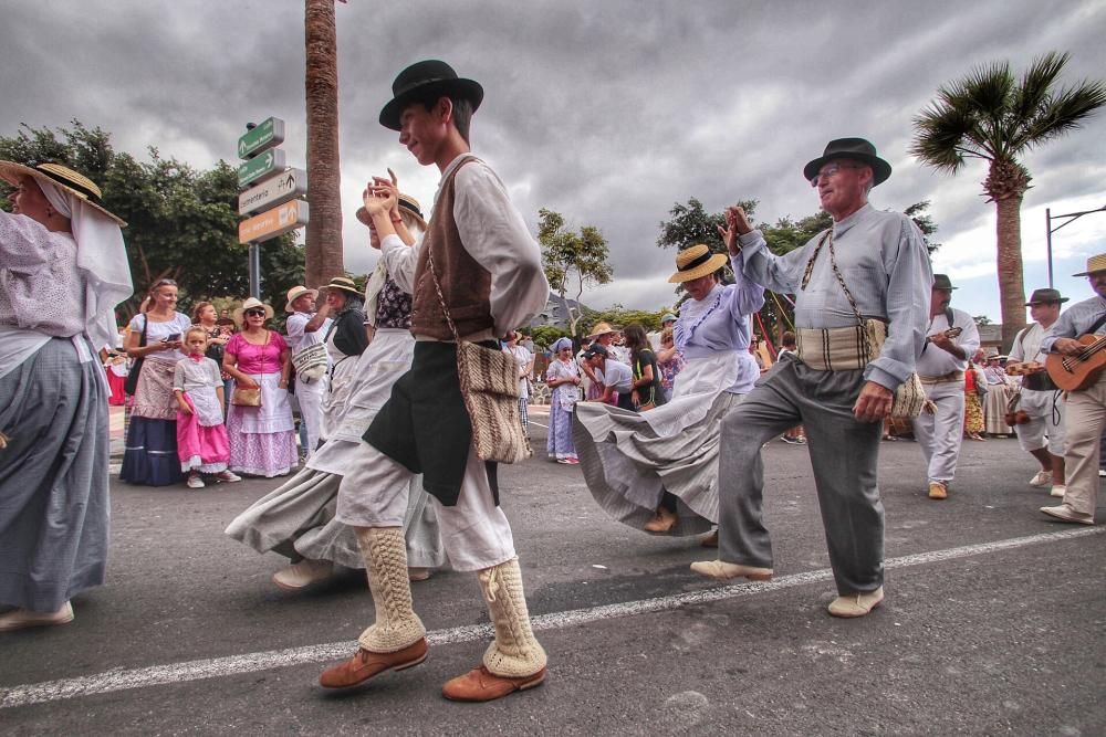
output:
[[[184,347],[188,357],[177,361],[173,375],[180,470],[188,472],[189,488],[204,487],[204,473],[213,473],[218,481],[242,481],[227,468],[230,443],[222,424],[222,377],[219,366],[204,355],[207,331],[190,328]]]

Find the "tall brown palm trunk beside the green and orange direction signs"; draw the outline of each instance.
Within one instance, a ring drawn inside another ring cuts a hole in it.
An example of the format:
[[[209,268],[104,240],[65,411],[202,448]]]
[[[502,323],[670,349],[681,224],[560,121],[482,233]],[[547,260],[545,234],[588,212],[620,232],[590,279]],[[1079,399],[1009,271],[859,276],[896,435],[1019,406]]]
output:
[[[303,25],[307,56],[307,203],[311,206],[304,278],[309,286],[319,286],[345,273],[334,0],[306,0]]]

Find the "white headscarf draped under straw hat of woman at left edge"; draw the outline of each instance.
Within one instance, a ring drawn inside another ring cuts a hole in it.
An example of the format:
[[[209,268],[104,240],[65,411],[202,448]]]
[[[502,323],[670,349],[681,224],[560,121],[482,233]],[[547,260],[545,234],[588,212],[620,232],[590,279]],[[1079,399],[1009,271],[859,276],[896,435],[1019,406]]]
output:
[[[70,219],[76,242],[76,267],[87,284],[84,292],[85,334],[95,350],[109,348],[115,345],[118,334],[115,306],[134,294],[123,231],[114,220],[80,197],[40,178],[35,178],[35,183],[50,204]]]

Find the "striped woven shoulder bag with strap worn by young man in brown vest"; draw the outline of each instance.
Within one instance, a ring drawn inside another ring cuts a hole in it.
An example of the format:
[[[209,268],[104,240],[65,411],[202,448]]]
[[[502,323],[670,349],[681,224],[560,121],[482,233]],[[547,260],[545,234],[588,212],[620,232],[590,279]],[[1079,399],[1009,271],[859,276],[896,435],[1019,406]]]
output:
[[[441,284],[435,273],[434,257],[427,244],[427,267],[438,293],[438,303],[457,341],[457,372],[461,398],[472,424],[472,445],[481,461],[518,463],[533,455],[530,439],[519,413],[519,364],[514,356],[498,348],[484,348],[461,340],[449,316]]]

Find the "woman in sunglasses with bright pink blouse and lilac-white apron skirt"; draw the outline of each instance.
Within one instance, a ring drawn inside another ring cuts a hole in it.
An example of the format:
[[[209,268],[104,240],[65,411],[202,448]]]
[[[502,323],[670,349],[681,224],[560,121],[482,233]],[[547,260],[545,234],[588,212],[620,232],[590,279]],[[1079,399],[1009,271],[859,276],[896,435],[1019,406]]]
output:
[[[242,325],[227,344],[222,368],[234,377],[227,434],[230,470],[251,476],[284,476],[295,466],[295,431],[288,397],[291,351],[284,338],[265,328],[273,308],[250,297],[234,310]],[[261,406],[237,404],[239,389],[261,389]]]

